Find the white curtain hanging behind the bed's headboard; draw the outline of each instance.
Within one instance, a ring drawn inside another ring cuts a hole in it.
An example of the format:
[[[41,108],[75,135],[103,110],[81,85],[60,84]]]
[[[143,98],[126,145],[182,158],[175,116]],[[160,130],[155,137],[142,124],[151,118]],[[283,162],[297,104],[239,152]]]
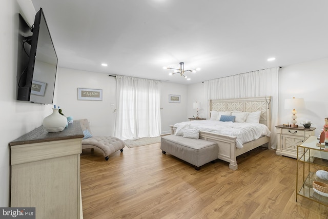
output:
[[[256,96],[271,96],[271,147],[277,147],[276,128],[278,122],[278,72],[270,68],[205,81],[207,99],[227,99]],[[210,103],[207,104],[210,111]],[[209,117],[209,114],[208,114]]]

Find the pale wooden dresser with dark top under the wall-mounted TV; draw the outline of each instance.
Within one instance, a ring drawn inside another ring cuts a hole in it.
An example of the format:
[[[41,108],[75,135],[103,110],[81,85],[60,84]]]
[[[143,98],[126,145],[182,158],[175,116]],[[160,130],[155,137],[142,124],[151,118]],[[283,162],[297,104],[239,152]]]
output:
[[[78,121],[61,132],[43,126],[9,143],[11,207],[35,207],[36,218],[80,218]]]

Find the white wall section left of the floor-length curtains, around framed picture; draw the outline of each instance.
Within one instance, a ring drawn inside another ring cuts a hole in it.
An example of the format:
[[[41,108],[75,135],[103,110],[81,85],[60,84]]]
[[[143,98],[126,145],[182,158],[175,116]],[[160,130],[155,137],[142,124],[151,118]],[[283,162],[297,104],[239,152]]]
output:
[[[108,74],[59,68],[57,106],[74,120],[88,118],[93,135],[114,136],[115,77]],[[103,101],[77,99],[77,88],[103,90]],[[114,104],[112,106],[111,104]]]

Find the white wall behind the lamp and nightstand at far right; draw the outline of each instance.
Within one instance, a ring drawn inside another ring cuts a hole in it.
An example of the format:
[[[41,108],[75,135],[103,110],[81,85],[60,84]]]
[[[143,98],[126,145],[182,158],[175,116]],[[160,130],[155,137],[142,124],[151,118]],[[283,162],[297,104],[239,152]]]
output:
[[[287,98],[303,97],[305,109],[297,110],[297,124],[311,120],[319,135],[328,117],[328,58],[282,67],[279,71],[278,123],[291,123],[291,110],[284,109]]]

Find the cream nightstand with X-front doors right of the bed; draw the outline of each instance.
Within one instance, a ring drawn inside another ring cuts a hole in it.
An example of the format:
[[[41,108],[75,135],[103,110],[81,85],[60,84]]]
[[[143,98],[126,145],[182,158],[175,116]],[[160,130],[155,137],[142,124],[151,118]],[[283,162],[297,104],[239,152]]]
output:
[[[277,128],[277,155],[297,157],[297,146],[301,145],[306,138],[314,135],[316,128],[288,127],[278,125]]]

